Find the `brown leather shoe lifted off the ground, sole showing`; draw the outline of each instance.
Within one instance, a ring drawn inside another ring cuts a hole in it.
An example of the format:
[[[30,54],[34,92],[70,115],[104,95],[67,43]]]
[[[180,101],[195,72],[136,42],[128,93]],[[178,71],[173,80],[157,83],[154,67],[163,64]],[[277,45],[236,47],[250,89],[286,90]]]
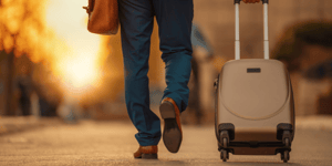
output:
[[[170,97],[166,97],[162,101],[159,111],[162,118],[164,120],[164,144],[169,152],[177,153],[183,141],[183,131],[179,118],[180,112]]]

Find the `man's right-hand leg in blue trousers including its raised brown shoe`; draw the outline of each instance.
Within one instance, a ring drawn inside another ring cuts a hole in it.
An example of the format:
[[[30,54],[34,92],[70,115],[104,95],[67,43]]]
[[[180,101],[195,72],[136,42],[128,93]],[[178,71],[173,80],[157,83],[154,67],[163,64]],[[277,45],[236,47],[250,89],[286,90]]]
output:
[[[153,4],[159,25],[162,59],[166,64],[167,87],[159,106],[165,122],[163,141],[169,152],[177,153],[183,141],[179,116],[189,96],[193,0],[153,0]]]

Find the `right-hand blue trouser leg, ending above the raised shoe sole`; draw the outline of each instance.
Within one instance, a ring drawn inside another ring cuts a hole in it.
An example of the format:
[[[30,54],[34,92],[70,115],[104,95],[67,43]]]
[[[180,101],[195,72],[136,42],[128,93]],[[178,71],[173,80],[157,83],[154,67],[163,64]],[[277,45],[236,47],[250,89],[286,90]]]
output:
[[[193,0],[153,0],[159,25],[162,59],[166,64],[165,97],[175,101],[180,112],[188,105],[191,71]]]

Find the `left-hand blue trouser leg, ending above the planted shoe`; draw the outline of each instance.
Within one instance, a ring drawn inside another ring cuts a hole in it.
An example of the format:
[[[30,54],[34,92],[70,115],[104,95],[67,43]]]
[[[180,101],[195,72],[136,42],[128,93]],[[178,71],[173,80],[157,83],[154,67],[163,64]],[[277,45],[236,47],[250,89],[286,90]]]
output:
[[[160,121],[149,110],[147,77],[153,7],[149,0],[120,0],[118,6],[127,112],[138,131],[135,137],[139,145],[157,145]]]

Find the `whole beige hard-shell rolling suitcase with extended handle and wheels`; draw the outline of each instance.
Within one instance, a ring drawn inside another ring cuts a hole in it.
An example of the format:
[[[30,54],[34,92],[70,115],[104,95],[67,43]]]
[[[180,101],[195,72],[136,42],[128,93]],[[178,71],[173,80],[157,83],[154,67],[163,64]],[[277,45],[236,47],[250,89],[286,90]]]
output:
[[[216,136],[220,158],[277,155],[287,163],[294,137],[294,102],[282,62],[269,60],[268,0],[263,2],[264,59],[240,60],[239,4],[236,6],[236,60],[215,82]]]

